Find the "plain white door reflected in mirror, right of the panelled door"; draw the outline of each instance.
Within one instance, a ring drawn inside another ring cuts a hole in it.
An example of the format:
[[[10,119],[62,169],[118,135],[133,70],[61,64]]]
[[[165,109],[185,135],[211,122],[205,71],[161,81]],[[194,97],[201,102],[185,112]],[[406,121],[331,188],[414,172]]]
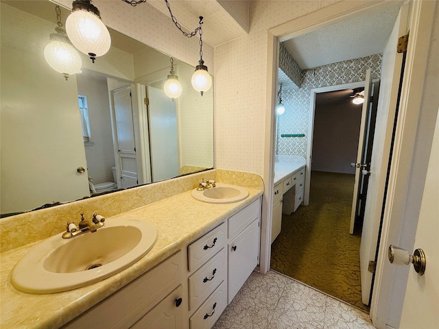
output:
[[[147,95],[152,182],[158,182],[179,173],[176,103],[163,89],[147,86]]]

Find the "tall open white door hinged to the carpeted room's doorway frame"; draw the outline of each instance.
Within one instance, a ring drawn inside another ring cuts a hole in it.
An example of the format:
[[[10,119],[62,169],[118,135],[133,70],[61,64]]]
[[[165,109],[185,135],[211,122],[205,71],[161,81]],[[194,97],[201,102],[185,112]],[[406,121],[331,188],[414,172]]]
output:
[[[390,145],[392,143],[392,128],[396,103],[399,95],[399,80],[403,54],[396,53],[398,38],[407,33],[408,5],[403,5],[399,11],[388,45],[383,52],[381,66],[381,84],[377,121],[375,124],[374,147],[370,160],[370,178],[368,183],[368,198],[364,212],[363,230],[360,245],[361,271],[361,300],[368,305],[372,288],[372,272],[368,270],[369,261],[375,261],[377,241],[383,206],[386,174],[388,171]]]

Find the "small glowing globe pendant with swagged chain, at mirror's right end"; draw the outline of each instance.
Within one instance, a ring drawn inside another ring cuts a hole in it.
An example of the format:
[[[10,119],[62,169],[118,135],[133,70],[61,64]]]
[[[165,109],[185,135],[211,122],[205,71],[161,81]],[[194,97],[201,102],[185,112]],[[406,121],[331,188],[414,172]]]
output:
[[[147,0],[123,0],[123,1],[125,1],[126,3],[129,3],[133,7],[135,7],[139,3],[147,2]],[[169,2],[167,0],[165,0],[165,3],[167,5],[167,9],[169,10],[169,14],[171,15],[172,21],[174,22],[176,27],[182,32],[182,34],[184,36],[187,36],[188,38],[191,38],[193,36],[196,36],[197,33],[200,34],[200,42],[199,42],[200,43],[200,60],[198,61],[198,65],[195,67],[195,72],[192,75],[191,83],[192,83],[193,88],[195,90],[197,90],[199,93],[201,93],[201,95],[203,95],[212,86],[212,77],[209,74],[209,72],[207,71],[207,66],[204,65],[204,60],[203,60],[203,50],[202,50],[202,47],[203,47],[203,40],[202,40],[203,17],[200,16],[200,22],[198,23],[200,26],[198,26],[192,32],[189,32],[189,33],[185,32],[185,31],[182,30],[180,23],[178,23],[178,21],[176,19],[176,16],[174,16],[174,14],[172,14],[171,6],[169,5]]]

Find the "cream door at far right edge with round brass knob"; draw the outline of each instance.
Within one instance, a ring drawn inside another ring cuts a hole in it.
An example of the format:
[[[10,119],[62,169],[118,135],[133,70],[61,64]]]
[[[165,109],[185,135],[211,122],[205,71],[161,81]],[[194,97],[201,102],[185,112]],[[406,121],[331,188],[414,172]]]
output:
[[[405,291],[401,329],[439,328],[439,117],[436,119],[433,144],[420,206],[415,247],[423,249],[427,263],[419,276],[410,269]],[[412,252],[412,250],[409,250]],[[410,265],[412,267],[412,265]]]

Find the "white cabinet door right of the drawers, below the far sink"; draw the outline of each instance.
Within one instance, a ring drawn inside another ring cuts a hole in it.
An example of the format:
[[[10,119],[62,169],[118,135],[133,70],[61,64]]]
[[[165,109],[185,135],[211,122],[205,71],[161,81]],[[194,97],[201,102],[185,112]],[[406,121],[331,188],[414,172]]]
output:
[[[250,276],[259,258],[259,221],[253,221],[228,243],[228,303]]]

